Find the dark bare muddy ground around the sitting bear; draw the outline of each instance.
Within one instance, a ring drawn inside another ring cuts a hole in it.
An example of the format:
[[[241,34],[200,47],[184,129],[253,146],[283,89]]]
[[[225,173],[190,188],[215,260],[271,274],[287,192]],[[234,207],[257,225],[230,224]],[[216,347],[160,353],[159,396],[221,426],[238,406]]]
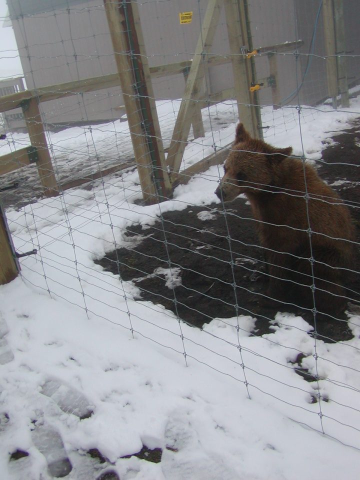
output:
[[[324,145],[318,173],[349,205],[360,241],[360,119],[333,140],[330,146]],[[133,248],[107,254],[98,263],[115,274],[120,272],[123,280],[132,280],[139,288],[139,300],[160,303],[197,327],[214,317],[248,314],[256,317],[253,334],[272,331],[270,321],[278,307],[264,307],[259,301],[266,293],[267,278],[258,273],[263,266],[262,250],[243,199],[226,204],[226,215],[215,203],[189,206],[164,213],[162,222],[146,229],[132,225],[126,235],[141,241]],[[175,272],[172,284],[168,273],[158,270],[169,266]],[[353,268],[360,271],[357,248]],[[360,274],[354,275],[348,287],[356,304]],[[288,305],[284,311],[301,314],[313,324],[311,312]],[[317,321],[318,335],[325,341],[351,338],[347,319],[344,313],[337,320]]]

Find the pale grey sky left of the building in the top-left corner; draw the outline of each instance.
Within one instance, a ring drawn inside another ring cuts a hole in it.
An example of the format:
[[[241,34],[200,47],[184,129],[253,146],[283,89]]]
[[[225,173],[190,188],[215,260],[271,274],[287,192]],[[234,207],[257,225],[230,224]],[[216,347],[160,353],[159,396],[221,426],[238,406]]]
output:
[[[15,37],[11,27],[3,28],[3,19],[7,13],[5,0],[0,0],[0,80],[22,75],[22,68]]]

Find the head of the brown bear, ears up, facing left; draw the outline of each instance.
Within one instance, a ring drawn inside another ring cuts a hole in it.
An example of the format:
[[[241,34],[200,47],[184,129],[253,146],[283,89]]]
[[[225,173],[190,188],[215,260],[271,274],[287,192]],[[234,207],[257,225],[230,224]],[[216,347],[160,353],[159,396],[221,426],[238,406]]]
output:
[[[242,123],[236,126],[235,141],[224,164],[224,175],[215,194],[223,201],[240,193],[259,194],[276,186],[280,162],[291,155],[292,148],[276,148],[263,140],[251,138]]]

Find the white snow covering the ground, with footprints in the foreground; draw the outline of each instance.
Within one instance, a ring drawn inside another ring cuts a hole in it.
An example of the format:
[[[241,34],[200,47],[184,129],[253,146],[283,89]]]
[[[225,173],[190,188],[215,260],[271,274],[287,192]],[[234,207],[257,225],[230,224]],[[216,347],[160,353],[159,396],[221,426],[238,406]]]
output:
[[[158,110],[166,146],[178,102],[159,102]],[[341,111],[266,107],[265,140],[314,161],[323,142],[359,113],[356,99]],[[211,107],[206,136],[188,144],[182,168],[230,143],[235,121],[232,103]],[[74,165],[101,161],[102,168],[104,156],[131,154],[126,121],[51,133],[49,140],[59,176]],[[11,141],[4,150],[28,139],[14,134]],[[136,284],[94,263],[139,241],[124,235],[127,226],[146,227],[165,211],[216,201],[220,176],[221,166],[212,166],[179,185],[171,200],[142,206],[135,203],[137,172],[128,170],[91,189],[7,210],[16,250],[37,254],[21,258],[21,275],[0,286],[3,480],[51,478],[49,454],[36,437],[41,427],[60,435],[54,444],[59,452],[62,439],[72,480],[110,467],[121,480],[358,477],[359,316],[349,318],[355,337],[334,344],[314,340],[301,317],[286,313],[262,337],[249,333],[250,316],[214,318],[200,330],[161,305],[135,300]],[[210,216],[205,207],[199,214]],[[177,270],[159,273],[169,288],[180,281]],[[295,373],[299,353],[317,381]],[[82,418],[80,410],[93,413]],[[121,458],[142,445],[162,448],[161,462]],[[90,459],[91,448],[108,461]],[[9,460],[16,450],[28,455]]]

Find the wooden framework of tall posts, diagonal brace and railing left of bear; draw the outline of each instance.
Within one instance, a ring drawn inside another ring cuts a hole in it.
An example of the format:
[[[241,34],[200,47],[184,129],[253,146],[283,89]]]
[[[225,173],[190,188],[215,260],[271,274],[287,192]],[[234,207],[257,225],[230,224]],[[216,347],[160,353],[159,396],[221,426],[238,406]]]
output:
[[[259,105],[256,89],[254,56],[266,54],[270,74],[277,74],[276,55],[273,52],[291,50],[301,41],[251,50],[249,18],[245,0],[209,0],[203,18],[201,32],[192,60],[149,67],[144,47],[136,2],[130,0],[105,0],[106,17],[115,54],[117,73],[87,78],[73,82],[25,90],[0,98],[0,112],[22,107],[29,132],[31,146],[0,157],[0,174],[36,163],[44,194],[52,196],[63,189],[76,186],[74,181],[62,185],[56,183],[49,155],[39,103],[77,93],[94,91],[121,85],[127,119],[130,127],[134,160],[138,169],[145,203],[161,201],[171,196],[175,184],[185,182],[188,175],[203,171],[210,164],[220,163],[226,149],[200,160],[189,169],[179,173],[183,152],[187,144],[190,125],[195,137],[202,136],[201,107],[209,102],[235,98],[239,118],[254,137],[261,137]],[[230,54],[211,55],[211,43],[218,23],[221,8],[225,10]],[[245,45],[245,47],[244,47]],[[221,92],[201,94],[201,84],[207,68],[231,62],[234,87]],[[151,78],[182,73],[185,91],[175,122],[167,159],[161,139]],[[274,104],[278,102],[276,77],[271,85]],[[90,181],[128,167],[128,163],[88,175],[77,184]]]

